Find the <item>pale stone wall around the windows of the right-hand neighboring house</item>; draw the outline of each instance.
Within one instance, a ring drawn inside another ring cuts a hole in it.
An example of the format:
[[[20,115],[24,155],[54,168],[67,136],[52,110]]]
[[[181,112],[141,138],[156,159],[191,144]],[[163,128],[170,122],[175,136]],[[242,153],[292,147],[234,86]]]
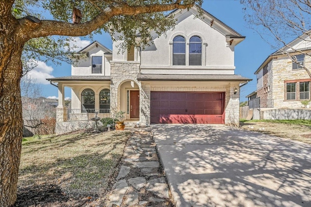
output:
[[[285,99],[285,83],[284,80],[299,80],[299,79],[309,79],[307,72],[304,69],[293,70],[292,61],[286,57],[278,57],[272,61],[273,68],[273,99],[274,108],[301,108],[303,105],[297,100],[286,100]],[[305,56],[305,65],[310,68],[311,57]],[[297,88],[297,86],[296,86]],[[299,90],[299,88],[298,88]],[[299,92],[299,91],[298,91]],[[296,93],[296,96],[299,94]]]

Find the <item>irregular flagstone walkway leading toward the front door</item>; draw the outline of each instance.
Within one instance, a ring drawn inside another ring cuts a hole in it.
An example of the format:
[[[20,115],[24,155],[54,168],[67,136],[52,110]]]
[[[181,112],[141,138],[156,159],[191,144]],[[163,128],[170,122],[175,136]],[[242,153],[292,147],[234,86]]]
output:
[[[173,207],[150,127],[134,128],[107,207]]]

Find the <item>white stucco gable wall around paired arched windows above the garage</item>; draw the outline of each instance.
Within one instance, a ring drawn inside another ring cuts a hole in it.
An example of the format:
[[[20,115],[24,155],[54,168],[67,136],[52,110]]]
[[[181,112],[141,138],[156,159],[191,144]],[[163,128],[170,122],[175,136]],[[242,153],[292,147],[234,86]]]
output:
[[[186,12],[179,17],[179,22],[174,30],[170,30],[165,35],[155,38],[154,44],[145,48],[141,52],[141,69],[142,73],[153,73],[152,69],[162,69],[164,74],[184,73],[184,69],[196,70],[205,69],[220,71],[219,74],[226,73],[222,69],[231,71],[234,70],[234,47],[228,46],[225,39],[225,34],[210,27],[200,18],[194,18],[191,12]],[[181,35],[186,40],[186,65],[173,65],[173,38]],[[192,36],[200,36],[203,42],[202,45],[202,65],[189,66],[189,41]],[[155,58],[157,57],[157,58]],[[149,71],[144,71],[148,69]],[[167,71],[163,71],[167,69]],[[172,69],[170,71],[169,69]],[[231,72],[230,71],[230,72]]]

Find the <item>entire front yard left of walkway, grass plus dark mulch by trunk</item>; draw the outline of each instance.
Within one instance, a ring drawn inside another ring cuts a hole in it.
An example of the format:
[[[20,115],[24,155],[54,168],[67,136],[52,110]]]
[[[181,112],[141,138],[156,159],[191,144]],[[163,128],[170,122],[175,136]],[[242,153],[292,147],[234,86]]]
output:
[[[24,139],[15,206],[103,206],[130,134],[75,132]]]

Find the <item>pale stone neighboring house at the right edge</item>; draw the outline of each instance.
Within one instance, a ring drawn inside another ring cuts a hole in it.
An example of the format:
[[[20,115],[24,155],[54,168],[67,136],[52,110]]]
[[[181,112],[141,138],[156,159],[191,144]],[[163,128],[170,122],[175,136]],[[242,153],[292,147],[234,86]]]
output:
[[[311,57],[298,51],[311,51],[311,39],[306,35],[296,38],[284,47],[269,55],[259,66],[257,75],[257,90],[246,96],[250,99],[260,97],[260,108],[296,109],[302,108],[302,100],[310,100],[310,77],[300,66],[311,68]],[[294,51],[294,48],[296,51]],[[293,62],[286,51],[299,64]]]

